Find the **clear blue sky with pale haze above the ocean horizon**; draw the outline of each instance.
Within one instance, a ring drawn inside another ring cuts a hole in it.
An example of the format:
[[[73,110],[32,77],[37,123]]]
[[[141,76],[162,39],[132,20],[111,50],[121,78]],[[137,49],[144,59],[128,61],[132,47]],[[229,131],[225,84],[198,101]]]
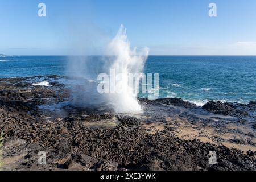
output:
[[[8,55],[101,55],[121,24],[150,55],[256,55],[255,0],[1,0],[0,24]]]

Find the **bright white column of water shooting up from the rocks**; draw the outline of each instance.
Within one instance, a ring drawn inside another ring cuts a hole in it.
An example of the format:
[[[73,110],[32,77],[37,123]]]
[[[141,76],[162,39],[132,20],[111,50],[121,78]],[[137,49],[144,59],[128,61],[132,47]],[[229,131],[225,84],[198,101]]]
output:
[[[114,80],[115,89],[119,86],[122,92],[110,94],[110,101],[115,111],[118,113],[140,112],[141,106],[137,100],[139,81],[135,80],[135,85],[130,85],[129,74],[142,73],[149,52],[148,48],[143,48],[141,52],[137,52],[136,47],[131,49],[126,29],[121,25],[117,35],[109,43],[107,51],[109,55],[114,55],[114,62],[110,69],[115,71],[115,75],[122,74],[121,78]]]

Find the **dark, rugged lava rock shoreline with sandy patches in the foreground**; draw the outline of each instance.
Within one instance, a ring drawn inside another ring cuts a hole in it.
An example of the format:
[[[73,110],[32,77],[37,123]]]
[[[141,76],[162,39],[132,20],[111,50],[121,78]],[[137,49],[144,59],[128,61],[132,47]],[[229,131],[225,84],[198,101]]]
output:
[[[140,99],[143,113],[68,103],[64,77],[0,79],[4,170],[255,170],[256,101]],[[32,85],[48,81],[51,86]],[[46,152],[46,165],[38,152]],[[209,164],[209,152],[217,164]]]

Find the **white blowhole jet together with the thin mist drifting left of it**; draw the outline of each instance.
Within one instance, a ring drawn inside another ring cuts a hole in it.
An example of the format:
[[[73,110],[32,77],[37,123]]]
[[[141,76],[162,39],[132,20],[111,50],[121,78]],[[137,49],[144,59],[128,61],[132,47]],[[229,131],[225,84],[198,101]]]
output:
[[[108,105],[117,113],[138,113],[141,111],[137,100],[139,75],[147,56],[148,48],[137,52],[136,47],[130,47],[123,25],[106,46],[105,56],[72,56],[68,72],[73,77],[73,104],[85,107]],[[100,74],[110,76],[108,93],[98,92],[98,84],[104,82],[97,79]],[[129,84],[130,74],[138,75],[134,77],[133,84]]]

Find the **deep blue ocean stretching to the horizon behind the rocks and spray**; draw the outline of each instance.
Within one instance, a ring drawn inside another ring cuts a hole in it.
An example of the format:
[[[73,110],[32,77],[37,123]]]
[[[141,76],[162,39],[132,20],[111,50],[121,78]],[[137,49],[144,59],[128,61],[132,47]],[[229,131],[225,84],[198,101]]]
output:
[[[87,72],[98,67],[97,60],[104,64],[101,57],[92,58]],[[66,56],[0,57],[0,77],[67,75],[67,60]],[[256,100],[256,56],[149,56],[144,72],[159,73],[160,97],[181,97],[199,105],[208,100]]]

